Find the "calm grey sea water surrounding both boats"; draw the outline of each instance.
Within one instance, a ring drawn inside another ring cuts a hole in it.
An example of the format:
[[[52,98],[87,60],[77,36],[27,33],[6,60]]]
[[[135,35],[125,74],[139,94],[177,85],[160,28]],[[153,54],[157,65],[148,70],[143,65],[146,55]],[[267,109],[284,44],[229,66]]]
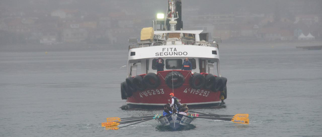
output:
[[[221,44],[225,107],[191,110],[248,113],[250,124],[196,119],[180,131],[156,120],[101,127],[162,112],[122,107],[127,50],[0,52],[0,136],[322,136],[322,50],[295,46]]]

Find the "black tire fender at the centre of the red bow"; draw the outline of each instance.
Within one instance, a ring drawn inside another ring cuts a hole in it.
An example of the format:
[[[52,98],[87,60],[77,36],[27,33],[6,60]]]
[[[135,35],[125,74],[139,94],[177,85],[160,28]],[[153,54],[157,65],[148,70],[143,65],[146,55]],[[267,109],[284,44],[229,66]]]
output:
[[[185,77],[178,71],[171,71],[166,74],[165,82],[170,88],[178,88],[185,82]]]

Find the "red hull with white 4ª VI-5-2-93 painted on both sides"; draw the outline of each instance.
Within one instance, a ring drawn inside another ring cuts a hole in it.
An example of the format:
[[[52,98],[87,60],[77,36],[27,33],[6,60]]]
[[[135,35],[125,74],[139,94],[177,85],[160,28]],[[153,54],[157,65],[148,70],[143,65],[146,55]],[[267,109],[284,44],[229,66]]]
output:
[[[176,70],[180,71],[180,70]],[[193,89],[189,80],[192,76],[191,71],[180,71],[185,77],[185,82],[178,88],[170,88],[165,83],[165,77],[169,71],[161,71],[157,73],[160,79],[160,85],[157,88],[147,88],[144,91],[134,92],[128,97],[127,104],[130,107],[146,108],[149,106],[163,106],[171,103],[169,94],[174,93],[175,97],[180,99],[181,104],[185,103],[189,106],[218,106],[221,105],[220,92],[213,92],[210,89]]]

